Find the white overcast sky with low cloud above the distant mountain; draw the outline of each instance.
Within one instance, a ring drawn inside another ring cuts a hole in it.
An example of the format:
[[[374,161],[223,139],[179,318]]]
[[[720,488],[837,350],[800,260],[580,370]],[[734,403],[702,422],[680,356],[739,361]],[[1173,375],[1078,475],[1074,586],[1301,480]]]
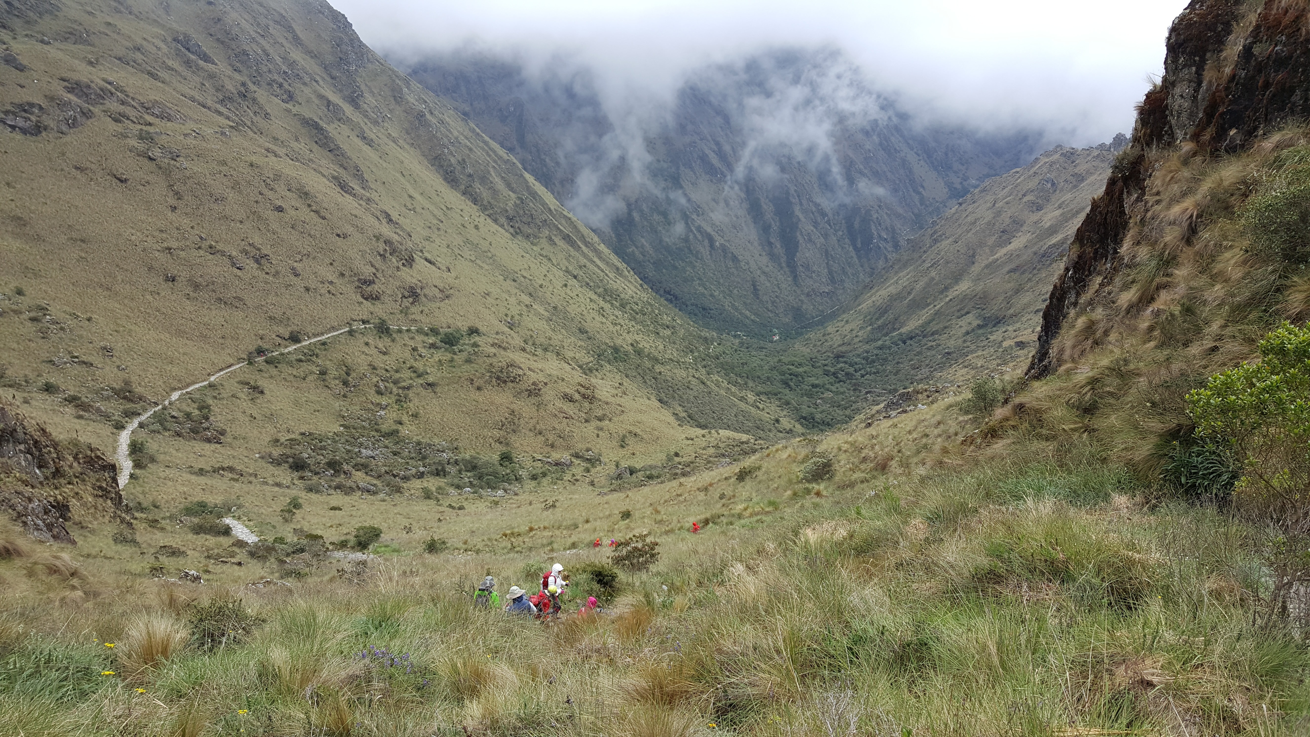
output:
[[[1186,0],[330,0],[403,64],[481,46],[591,66],[610,90],[667,94],[693,67],[779,45],[834,45],[903,105],[1052,142],[1128,132]]]

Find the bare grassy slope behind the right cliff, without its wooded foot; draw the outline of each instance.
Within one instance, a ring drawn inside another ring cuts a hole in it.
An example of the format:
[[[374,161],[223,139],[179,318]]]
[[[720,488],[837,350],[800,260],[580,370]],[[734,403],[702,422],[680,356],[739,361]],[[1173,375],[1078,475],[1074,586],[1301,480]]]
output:
[[[909,239],[876,283],[840,317],[807,336],[816,350],[905,344],[917,365],[888,365],[884,388],[924,382],[943,366],[971,374],[1024,357],[1043,308],[1035,283],[1052,281],[1116,149],[1056,147],[984,182]]]

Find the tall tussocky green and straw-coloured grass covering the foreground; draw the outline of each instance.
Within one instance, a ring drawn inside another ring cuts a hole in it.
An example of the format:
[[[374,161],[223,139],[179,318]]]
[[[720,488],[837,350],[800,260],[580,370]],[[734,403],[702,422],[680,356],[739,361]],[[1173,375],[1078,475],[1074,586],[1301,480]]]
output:
[[[722,483],[777,484],[803,459],[762,456],[755,477]],[[5,631],[0,698],[17,716],[0,729],[155,733],[186,719],[217,734],[1305,727],[1310,650],[1290,629],[1252,624],[1268,572],[1241,523],[1205,508],[1146,509],[1131,475],[1087,454],[841,480],[831,498],[782,508],[764,527],[660,535],[660,563],[621,573],[599,618],[542,627],[472,607],[485,573],[502,589],[525,585],[550,563],[540,555],[390,549],[360,584],[318,573],[244,590],[266,620],[253,636],[186,650],[131,682],[100,675],[113,656],[93,640],[168,610],[156,585],[105,569],[97,585],[114,584],[94,607],[8,612],[26,624]],[[561,560],[583,570],[603,557]],[[0,574],[21,577],[16,564]],[[55,620],[69,624],[47,632]]]

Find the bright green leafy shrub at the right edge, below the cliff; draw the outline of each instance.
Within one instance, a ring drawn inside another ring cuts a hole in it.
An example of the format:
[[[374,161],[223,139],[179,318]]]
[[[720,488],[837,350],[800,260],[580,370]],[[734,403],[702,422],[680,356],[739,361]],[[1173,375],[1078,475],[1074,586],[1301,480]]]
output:
[[[1310,325],[1282,323],[1260,359],[1187,395],[1196,437],[1229,452],[1242,477],[1233,502],[1267,535],[1275,572],[1269,619],[1310,581]]]

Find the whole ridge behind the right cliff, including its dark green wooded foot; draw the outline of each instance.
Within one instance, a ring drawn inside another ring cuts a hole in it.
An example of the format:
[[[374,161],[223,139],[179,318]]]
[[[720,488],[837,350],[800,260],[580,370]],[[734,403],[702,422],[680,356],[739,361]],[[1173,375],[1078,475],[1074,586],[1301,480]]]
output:
[[[720,371],[814,430],[914,384],[1003,374],[1031,355],[1034,285],[1055,279],[1123,143],[1056,147],[982,182],[828,324],[778,344],[738,338],[720,348]]]

